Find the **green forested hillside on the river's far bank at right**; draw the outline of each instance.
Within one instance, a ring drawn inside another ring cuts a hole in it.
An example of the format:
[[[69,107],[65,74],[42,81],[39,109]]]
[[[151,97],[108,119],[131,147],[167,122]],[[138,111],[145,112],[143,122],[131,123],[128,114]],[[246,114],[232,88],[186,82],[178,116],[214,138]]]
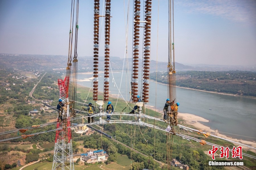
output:
[[[179,71],[176,86],[256,97],[256,73],[251,71]],[[168,84],[167,72],[154,72],[150,79]]]

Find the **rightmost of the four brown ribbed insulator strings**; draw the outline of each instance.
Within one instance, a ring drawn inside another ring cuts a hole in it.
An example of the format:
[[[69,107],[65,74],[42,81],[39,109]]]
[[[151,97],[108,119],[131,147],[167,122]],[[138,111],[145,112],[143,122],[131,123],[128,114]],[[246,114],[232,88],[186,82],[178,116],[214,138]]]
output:
[[[143,60],[143,91],[142,101],[147,103],[149,101],[149,67],[150,67],[150,41],[151,41],[151,5],[152,0],[145,2],[145,25],[144,25],[144,60]]]

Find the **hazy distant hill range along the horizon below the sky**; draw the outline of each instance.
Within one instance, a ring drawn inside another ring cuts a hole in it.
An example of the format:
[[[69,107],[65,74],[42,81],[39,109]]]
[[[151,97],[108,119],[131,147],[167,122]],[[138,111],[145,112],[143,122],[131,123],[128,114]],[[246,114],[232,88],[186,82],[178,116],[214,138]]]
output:
[[[78,59],[78,71],[92,71],[93,70],[93,57],[84,56],[77,57]],[[65,69],[67,66],[67,56],[55,56],[55,55],[31,55],[31,54],[0,54],[0,66],[1,68],[14,68],[20,70],[53,70],[53,69]],[[110,65],[112,70],[123,69],[123,59],[119,57],[110,57]],[[128,58],[129,65],[125,66],[132,69],[132,58]],[[156,65],[157,63],[157,65]],[[142,64],[142,60],[139,60],[139,64]],[[167,71],[167,62],[150,61],[150,71]],[[157,67],[156,67],[157,66]],[[104,57],[99,57],[99,71],[104,70]],[[223,65],[183,65],[181,63],[175,63],[176,71],[256,71],[255,67],[245,66],[223,66]]]

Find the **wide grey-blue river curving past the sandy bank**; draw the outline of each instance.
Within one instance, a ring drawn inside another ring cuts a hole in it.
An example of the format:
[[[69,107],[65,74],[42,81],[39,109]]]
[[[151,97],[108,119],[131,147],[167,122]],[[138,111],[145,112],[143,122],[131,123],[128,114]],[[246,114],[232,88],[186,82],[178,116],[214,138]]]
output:
[[[110,73],[110,94],[121,94],[129,101],[129,74],[121,71]],[[99,91],[103,92],[104,74],[99,74]],[[92,87],[92,72],[78,73],[78,84]],[[139,82],[140,83],[140,82]],[[138,89],[141,89],[139,86]],[[157,90],[156,90],[157,89]],[[139,90],[140,93],[140,90]],[[121,95],[119,97],[123,98]],[[167,98],[167,85],[150,81],[150,95],[147,105],[162,110]],[[176,88],[176,101],[180,103],[180,113],[190,113],[203,117],[209,122],[201,122],[219,133],[235,139],[256,141],[256,99],[244,96],[215,94],[191,89]]]

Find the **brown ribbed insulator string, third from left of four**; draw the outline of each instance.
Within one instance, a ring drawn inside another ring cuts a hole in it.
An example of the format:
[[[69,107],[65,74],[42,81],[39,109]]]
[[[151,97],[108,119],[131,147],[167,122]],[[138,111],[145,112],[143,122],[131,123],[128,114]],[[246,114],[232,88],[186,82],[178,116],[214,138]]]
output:
[[[139,38],[140,38],[141,1],[134,0],[134,25],[133,25],[133,75],[131,84],[132,101],[138,101],[138,69],[139,69]]]

